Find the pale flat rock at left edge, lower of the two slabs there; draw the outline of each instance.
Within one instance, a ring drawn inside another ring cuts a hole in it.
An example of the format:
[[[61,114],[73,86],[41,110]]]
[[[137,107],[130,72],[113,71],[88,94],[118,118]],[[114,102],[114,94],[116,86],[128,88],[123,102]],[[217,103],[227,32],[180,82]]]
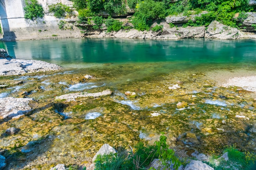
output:
[[[31,110],[28,105],[31,98],[0,98],[0,119],[15,118],[24,115]]]

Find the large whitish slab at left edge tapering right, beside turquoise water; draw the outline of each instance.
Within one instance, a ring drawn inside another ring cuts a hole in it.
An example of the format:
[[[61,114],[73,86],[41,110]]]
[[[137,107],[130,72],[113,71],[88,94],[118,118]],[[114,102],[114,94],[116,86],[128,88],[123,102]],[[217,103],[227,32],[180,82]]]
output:
[[[25,73],[37,73],[60,70],[61,67],[39,60],[19,60],[0,58],[0,76],[22,75]]]

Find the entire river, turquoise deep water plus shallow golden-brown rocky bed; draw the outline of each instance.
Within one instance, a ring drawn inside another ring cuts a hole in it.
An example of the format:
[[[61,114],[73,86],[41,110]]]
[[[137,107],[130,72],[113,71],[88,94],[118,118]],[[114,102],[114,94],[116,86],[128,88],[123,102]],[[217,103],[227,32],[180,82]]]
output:
[[[7,169],[86,165],[105,143],[153,144],[165,132],[176,152],[255,152],[256,41],[58,39],[5,42],[17,59],[61,71],[0,77],[0,97],[29,97],[31,110],[1,121]],[[87,79],[85,75],[91,75]],[[21,81],[21,84],[12,82]],[[173,88],[175,87],[175,88]],[[67,93],[112,95],[56,100]],[[127,91],[136,95],[125,95]],[[27,93],[23,93],[27,92]],[[4,135],[9,127],[16,135]]]

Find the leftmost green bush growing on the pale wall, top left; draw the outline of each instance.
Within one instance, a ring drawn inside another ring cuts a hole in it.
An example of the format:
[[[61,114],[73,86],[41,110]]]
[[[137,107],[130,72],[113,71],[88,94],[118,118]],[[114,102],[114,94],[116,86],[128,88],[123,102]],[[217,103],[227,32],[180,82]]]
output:
[[[43,7],[37,0],[25,0],[25,19],[34,20],[36,18],[43,18]]]

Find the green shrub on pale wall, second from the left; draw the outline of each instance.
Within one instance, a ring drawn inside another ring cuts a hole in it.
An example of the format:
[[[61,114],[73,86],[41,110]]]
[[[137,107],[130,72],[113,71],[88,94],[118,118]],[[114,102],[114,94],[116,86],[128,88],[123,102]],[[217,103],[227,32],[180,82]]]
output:
[[[49,6],[49,12],[54,12],[56,18],[63,18],[67,14],[68,16],[72,15],[72,10],[67,5],[62,3],[52,4]]]

